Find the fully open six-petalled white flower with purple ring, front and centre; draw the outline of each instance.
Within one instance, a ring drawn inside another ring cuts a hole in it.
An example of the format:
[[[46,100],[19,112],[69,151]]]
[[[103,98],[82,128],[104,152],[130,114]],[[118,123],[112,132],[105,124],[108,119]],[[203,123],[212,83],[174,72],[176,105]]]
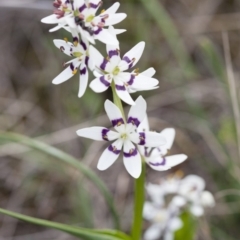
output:
[[[146,114],[146,101],[141,96],[131,107],[126,122],[119,108],[111,101],[106,100],[104,107],[116,131],[105,127],[90,127],[78,130],[77,134],[98,141],[114,141],[102,153],[97,166],[99,170],[109,168],[123,148],[124,165],[131,176],[138,178],[142,171],[142,161],[135,144],[154,147],[164,144],[165,140],[159,133],[136,131]]]

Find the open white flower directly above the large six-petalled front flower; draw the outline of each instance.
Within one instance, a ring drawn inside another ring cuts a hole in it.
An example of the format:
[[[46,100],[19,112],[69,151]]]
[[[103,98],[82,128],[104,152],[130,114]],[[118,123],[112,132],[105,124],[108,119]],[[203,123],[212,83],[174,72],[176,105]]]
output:
[[[112,30],[110,28],[110,32]],[[145,47],[144,42],[135,45],[121,59],[118,45],[107,44],[107,57],[104,58],[101,53],[93,46],[89,47],[90,55],[94,55],[96,71],[94,71],[95,79],[90,83],[90,88],[94,92],[106,91],[112,82],[116,88],[117,95],[124,102],[133,105],[134,101],[129,92],[154,89],[158,84],[158,80],[152,78],[151,74],[155,72],[153,68],[146,70],[146,73],[139,74],[138,71],[132,73],[125,72],[134,67],[142,56]],[[151,75],[151,76],[150,76]],[[129,88],[132,91],[129,91]]]

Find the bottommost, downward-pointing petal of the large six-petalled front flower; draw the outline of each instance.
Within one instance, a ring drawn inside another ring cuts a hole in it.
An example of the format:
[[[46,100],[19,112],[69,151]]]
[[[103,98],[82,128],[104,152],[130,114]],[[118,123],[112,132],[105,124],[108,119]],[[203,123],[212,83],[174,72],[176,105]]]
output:
[[[125,168],[132,177],[138,178],[142,172],[142,161],[137,148],[129,140],[126,140],[123,145],[123,151]]]

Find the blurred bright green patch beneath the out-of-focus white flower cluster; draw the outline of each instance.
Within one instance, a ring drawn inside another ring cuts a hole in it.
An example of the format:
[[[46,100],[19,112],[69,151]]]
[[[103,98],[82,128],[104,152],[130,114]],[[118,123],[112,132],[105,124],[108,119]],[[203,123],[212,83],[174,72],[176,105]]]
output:
[[[197,228],[196,218],[189,212],[183,212],[181,219],[183,221],[183,227],[175,232],[174,240],[193,240]]]

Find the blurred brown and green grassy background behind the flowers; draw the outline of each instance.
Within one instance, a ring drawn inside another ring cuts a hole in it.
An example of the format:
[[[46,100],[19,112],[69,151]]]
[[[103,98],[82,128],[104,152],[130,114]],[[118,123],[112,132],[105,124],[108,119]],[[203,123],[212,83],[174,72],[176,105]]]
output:
[[[78,74],[54,86],[52,79],[68,57],[53,39],[71,37],[40,19],[52,14],[52,0],[0,1],[0,128],[55,146],[84,162],[114,196],[122,229],[129,231],[133,179],[119,159],[110,169],[96,169],[102,142],[80,139],[82,127],[109,126],[104,99],[111,92],[88,89],[79,99]],[[103,8],[115,1],[104,0]],[[240,2],[238,0],[129,0],[118,12],[122,55],[137,42],[146,48],[137,67],[154,67],[160,88],[141,92],[148,103],[151,128],[176,129],[173,153],[188,160],[168,172],[147,169],[147,180],[181,170],[197,174],[213,192],[216,207],[199,221],[197,240],[240,238]],[[99,44],[102,53],[104,46]],[[93,77],[90,77],[92,80]],[[138,93],[139,94],[139,93]],[[135,94],[134,99],[138,96]],[[128,106],[126,106],[128,111]],[[98,189],[81,173],[57,159],[23,145],[1,141],[0,206],[30,216],[112,227]],[[73,240],[65,233],[0,215],[1,240]]]

